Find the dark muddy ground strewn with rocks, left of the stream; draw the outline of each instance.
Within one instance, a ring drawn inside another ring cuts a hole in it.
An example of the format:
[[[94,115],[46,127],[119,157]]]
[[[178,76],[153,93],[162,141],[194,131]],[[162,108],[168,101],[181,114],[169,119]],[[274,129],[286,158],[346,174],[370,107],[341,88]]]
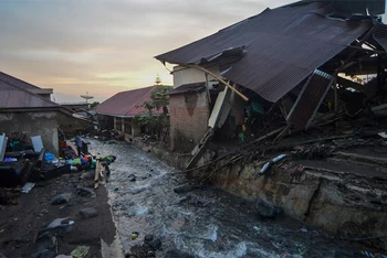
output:
[[[80,186],[92,187],[93,184],[93,179],[81,180],[81,174],[64,174],[38,183],[30,193],[19,197],[18,205],[1,206],[0,254],[8,258],[53,258],[56,250],[59,255],[70,255],[77,246],[88,246],[90,251],[85,257],[102,257],[101,240],[109,245],[116,235],[106,189],[102,185],[94,194],[93,189],[90,189],[91,193],[80,192]],[[69,197],[67,202],[52,205],[53,198],[60,194]],[[85,207],[94,207],[97,216],[81,217],[80,211]],[[74,224],[65,230],[52,232],[57,247],[48,239],[36,241],[40,229],[55,218],[65,217]]]

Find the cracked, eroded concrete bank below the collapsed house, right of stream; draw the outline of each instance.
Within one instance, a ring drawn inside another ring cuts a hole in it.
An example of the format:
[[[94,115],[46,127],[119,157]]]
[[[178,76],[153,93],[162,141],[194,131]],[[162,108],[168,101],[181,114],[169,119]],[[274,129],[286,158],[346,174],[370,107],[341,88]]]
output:
[[[263,163],[237,162],[219,171],[213,182],[244,198],[263,197],[283,207],[285,214],[338,236],[368,238],[387,232],[385,180],[302,169],[293,163],[260,175]],[[372,244],[387,248],[384,238]]]

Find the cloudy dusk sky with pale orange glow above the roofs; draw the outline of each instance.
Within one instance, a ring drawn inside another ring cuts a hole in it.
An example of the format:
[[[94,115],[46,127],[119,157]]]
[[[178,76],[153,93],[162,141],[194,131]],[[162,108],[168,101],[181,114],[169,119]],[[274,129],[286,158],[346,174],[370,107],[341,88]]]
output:
[[[0,0],[0,71],[56,101],[104,100],[117,92],[165,85],[154,58],[293,0]]]

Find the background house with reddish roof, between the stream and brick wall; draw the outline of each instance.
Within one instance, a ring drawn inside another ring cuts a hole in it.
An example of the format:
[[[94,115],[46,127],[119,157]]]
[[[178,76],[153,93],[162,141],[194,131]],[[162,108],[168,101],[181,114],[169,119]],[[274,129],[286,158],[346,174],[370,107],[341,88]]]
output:
[[[163,109],[147,108],[151,101],[151,94],[161,85],[149,86],[127,92],[121,92],[106,99],[96,107],[102,129],[114,129],[128,141],[142,135],[149,135],[150,128],[142,122],[144,117],[157,117],[164,114]]]

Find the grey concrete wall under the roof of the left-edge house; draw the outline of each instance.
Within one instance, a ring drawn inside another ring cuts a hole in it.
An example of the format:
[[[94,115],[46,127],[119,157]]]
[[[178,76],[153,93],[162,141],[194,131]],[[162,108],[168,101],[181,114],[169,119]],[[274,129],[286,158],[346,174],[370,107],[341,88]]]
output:
[[[41,136],[44,148],[59,155],[57,112],[1,112],[0,132],[22,132],[25,142],[32,146],[31,137]]]

